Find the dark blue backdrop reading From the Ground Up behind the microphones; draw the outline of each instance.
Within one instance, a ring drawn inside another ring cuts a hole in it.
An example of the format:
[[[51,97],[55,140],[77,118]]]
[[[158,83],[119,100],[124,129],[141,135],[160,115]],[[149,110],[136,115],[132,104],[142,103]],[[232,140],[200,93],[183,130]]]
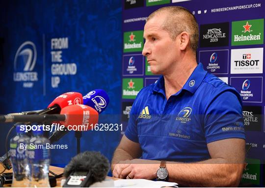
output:
[[[65,92],[97,88],[110,98],[106,118],[120,114],[121,16],[120,0],[0,1],[0,114],[43,109]],[[0,156],[9,128],[0,125]],[[81,151],[110,160],[119,134],[83,132]],[[64,166],[77,153],[74,132],[55,144],[68,144],[51,150],[52,163]]]

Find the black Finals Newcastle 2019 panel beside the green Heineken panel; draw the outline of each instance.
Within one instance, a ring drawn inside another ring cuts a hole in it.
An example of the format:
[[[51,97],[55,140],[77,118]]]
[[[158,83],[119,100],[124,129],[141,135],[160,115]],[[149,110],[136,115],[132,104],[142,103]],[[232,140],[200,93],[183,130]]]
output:
[[[228,46],[229,23],[200,26],[200,47]]]

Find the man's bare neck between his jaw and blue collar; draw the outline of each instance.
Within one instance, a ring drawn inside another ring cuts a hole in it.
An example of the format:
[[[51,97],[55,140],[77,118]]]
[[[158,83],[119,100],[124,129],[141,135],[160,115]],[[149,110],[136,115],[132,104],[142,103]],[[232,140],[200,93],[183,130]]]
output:
[[[165,81],[165,94],[166,99],[182,89],[185,82],[188,80],[192,72],[197,66],[197,62],[195,59],[189,59],[189,62],[181,62],[178,63],[177,66],[174,67],[174,70],[168,74],[164,75]]]

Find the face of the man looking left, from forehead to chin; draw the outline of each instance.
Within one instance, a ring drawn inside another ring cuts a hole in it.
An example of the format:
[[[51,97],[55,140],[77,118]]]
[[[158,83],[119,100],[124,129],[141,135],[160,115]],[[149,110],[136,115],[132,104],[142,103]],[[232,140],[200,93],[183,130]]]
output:
[[[142,51],[151,66],[151,72],[160,75],[172,71],[171,68],[179,57],[178,40],[173,40],[169,32],[162,28],[164,19],[166,14],[160,13],[145,24],[145,44]]]

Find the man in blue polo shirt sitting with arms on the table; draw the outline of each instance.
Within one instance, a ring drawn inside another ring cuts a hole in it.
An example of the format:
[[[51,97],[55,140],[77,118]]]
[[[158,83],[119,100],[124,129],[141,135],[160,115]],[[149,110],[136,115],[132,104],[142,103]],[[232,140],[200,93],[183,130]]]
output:
[[[113,155],[114,177],[238,186],[245,153],[240,96],[197,64],[198,32],[183,7],[163,7],[148,17],[142,54],[163,76],[133,103]]]

